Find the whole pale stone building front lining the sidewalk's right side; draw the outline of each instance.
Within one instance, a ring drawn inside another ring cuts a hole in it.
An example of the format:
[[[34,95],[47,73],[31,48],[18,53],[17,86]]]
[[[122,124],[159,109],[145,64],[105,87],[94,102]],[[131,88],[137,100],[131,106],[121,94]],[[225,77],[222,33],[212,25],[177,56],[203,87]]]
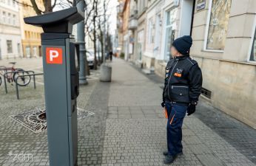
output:
[[[203,72],[201,96],[256,128],[256,1],[155,0],[136,5],[131,60],[164,77],[172,41],[192,35],[190,55]]]

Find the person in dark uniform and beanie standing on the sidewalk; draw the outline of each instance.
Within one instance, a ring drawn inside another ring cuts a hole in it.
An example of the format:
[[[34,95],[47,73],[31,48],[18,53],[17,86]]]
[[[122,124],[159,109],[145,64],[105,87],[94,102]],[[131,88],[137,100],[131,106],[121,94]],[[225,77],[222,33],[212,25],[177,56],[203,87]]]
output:
[[[172,43],[171,55],[166,66],[164,81],[163,103],[166,108],[167,121],[167,147],[164,151],[164,164],[171,164],[175,158],[182,154],[182,124],[183,118],[195,112],[198,97],[201,94],[202,73],[198,63],[189,57],[192,38],[184,35]]]

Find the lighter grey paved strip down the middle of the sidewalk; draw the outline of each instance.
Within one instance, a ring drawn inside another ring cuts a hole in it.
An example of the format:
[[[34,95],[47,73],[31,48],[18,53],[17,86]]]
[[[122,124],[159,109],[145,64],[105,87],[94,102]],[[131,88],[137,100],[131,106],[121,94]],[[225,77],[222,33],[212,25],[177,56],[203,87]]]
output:
[[[166,120],[159,83],[122,60],[112,63],[112,71],[103,165],[163,165]],[[255,165],[194,115],[184,120],[183,148],[173,165]]]

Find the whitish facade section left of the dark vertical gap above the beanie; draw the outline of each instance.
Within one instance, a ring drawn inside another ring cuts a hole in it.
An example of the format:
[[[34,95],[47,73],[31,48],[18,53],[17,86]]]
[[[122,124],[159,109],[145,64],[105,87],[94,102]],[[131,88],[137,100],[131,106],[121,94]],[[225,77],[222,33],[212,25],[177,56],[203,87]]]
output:
[[[194,1],[150,1],[146,10],[145,52],[143,67],[163,75],[172,41],[191,34]]]

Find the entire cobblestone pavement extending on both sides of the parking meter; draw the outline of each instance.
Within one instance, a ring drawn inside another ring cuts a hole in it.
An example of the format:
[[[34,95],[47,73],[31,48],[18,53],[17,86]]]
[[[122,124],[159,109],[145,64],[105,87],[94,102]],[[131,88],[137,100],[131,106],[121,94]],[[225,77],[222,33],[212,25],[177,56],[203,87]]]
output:
[[[20,64],[41,71],[40,60]],[[161,83],[124,60],[114,59],[111,65],[112,83],[99,82],[96,72],[89,85],[80,88],[78,107],[95,115],[78,120],[78,165],[163,165]],[[38,81],[43,83],[43,78]],[[44,106],[43,84],[36,90],[22,88],[21,100],[16,100],[13,86],[8,89],[4,94],[0,86],[0,165],[49,165],[47,131],[34,134],[10,118]],[[255,137],[255,130],[201,100],[195,115],[184,120],[183,156],[173,165],[255,165]],[[14,160],[16,154],[32,154],[33,159]]]

